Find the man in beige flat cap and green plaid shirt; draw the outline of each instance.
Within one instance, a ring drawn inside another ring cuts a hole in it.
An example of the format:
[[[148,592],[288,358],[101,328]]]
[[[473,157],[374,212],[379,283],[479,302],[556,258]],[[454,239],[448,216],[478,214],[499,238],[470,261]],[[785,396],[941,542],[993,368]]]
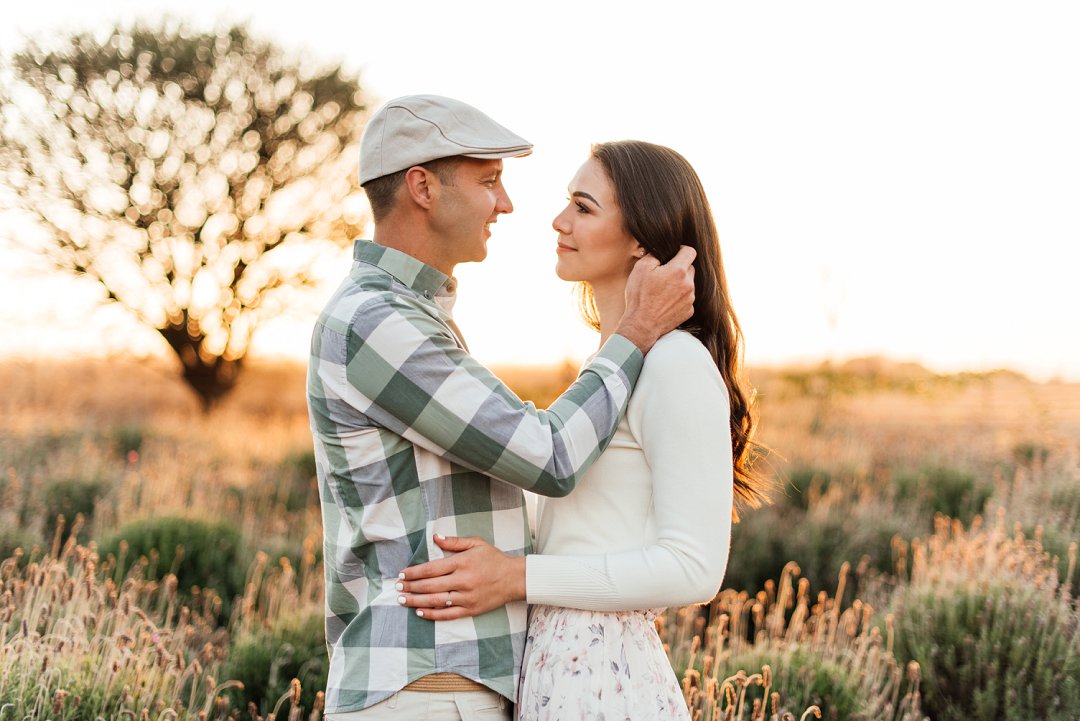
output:
[[[308,404],[325,534],[332,719],[509,718],[526,609],[431,623],[399,602],[434,534],[530,550],[522,489],[563,495],[610,440],[643,354],[690,317],[693,251],[638,262],[616,334],[548,410],[473,359],[454,323],[459,262],[513,204],[502,159],[531,145],[451,98],[370,119],[360,181],[375,217],[312,337]],[[508,590],[508,598],[511,594]],[[453,604],[448,594],[447,604]]]

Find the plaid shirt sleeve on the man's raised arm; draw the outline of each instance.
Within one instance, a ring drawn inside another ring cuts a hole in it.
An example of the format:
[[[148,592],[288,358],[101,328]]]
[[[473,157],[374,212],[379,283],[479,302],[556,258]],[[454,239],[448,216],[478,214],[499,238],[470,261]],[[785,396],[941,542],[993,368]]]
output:
[[[548,410],[522,402],[416,301],[372,299],[327,328],[327,403],[424,450],[541,495],[566,495],[610,439],[640,369],[616,336]]]

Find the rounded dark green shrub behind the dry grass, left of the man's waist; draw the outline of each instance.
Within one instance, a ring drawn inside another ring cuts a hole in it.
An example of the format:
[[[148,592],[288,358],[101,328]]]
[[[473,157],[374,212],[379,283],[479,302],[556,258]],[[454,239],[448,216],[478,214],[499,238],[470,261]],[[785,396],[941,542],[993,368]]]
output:
[[[127,544],[124,559],[120,558],[121,542]],[[178,589],[186,598],[191,597],[195,586],[214,589],[221,596],[221,617],[228,617],[232,599],[244,591],[253,560],[234,526],[190,518],[147,518],[124,526],[100,544],[103,557],[117,557],[119,576],[140,557],[149,559],[154,552],[157,563],[148,567],[149,577],[175,573]]]

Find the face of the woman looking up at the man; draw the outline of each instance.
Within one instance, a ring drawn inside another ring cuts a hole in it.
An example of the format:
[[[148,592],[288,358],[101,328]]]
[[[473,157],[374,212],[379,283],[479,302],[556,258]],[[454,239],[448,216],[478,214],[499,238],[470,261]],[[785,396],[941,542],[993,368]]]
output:
[[[604,166],[590,158],[570,180],[569,192],[567,206],[551,223],[558,232],[555,273],[593,286],[625,280],[640,246],[623,226]]]

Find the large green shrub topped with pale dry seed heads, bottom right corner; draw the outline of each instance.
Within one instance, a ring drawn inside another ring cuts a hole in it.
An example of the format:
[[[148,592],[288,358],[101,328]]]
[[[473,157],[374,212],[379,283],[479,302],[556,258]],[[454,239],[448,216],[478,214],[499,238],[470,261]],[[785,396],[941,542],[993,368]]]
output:
[[[930,717],[1080,719],[1080,612],[1034,545],[940,529],[922,548],[893,614],[896,655],[921,666]]]

